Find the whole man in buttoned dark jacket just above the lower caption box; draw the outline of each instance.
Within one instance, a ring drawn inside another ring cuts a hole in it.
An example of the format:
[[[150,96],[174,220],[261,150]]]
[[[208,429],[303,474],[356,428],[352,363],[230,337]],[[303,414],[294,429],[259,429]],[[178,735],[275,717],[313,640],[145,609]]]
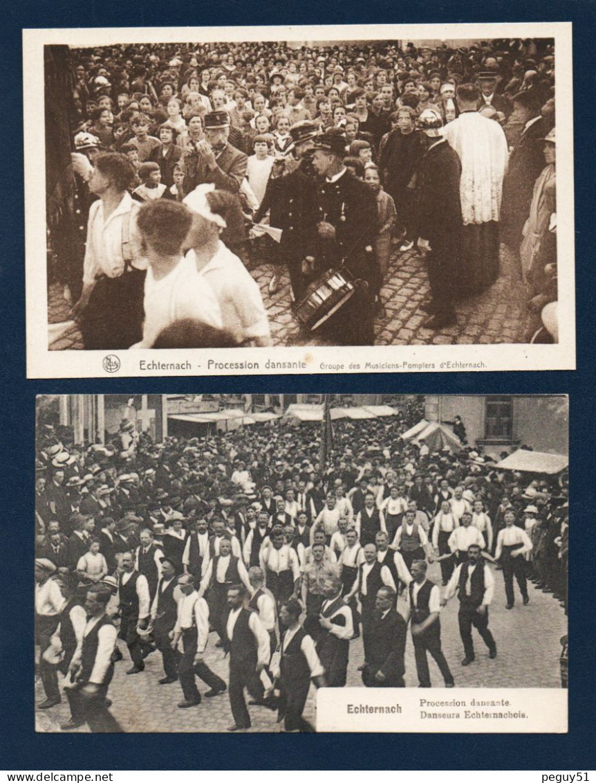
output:
[[[366,627],[362,667],[366,687],[404,687],[408,626],[396,611],[397,593],[382,586],[375,594],[375,608]]]

